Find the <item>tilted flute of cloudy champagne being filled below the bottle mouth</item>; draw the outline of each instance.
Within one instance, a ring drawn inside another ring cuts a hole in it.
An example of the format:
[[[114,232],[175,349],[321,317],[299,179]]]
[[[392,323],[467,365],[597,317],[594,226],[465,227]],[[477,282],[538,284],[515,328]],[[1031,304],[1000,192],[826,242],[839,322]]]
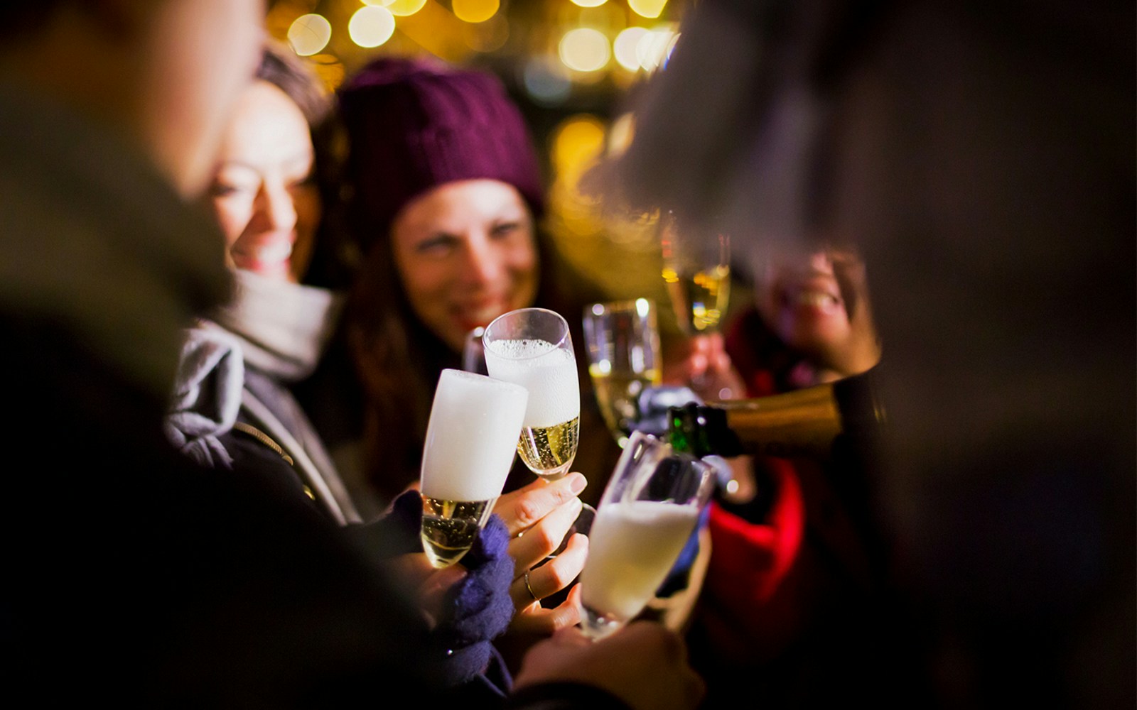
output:
[[[600,499],[581,571],[581,628],[588,636],[607,636],[644,610],[713,490],[711,466],[632,433]]]

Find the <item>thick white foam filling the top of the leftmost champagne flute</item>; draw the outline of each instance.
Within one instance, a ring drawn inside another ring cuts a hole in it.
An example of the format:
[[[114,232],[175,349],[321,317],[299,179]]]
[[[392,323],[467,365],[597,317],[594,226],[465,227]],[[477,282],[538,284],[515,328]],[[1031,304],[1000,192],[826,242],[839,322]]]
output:
[[[528,399],[516,384],[442,370],[423,446],[423,493],[449,501],[500,495]]]

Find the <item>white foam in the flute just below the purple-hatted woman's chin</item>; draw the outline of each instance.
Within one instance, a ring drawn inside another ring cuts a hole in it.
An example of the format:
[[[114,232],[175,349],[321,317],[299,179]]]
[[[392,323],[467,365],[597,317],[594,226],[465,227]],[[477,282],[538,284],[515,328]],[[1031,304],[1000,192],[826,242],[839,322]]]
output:
[[[580,383],[572,352],[543,340],[489,343],[490,375],[529,390],[524,426],[548,427],[580,416]]]

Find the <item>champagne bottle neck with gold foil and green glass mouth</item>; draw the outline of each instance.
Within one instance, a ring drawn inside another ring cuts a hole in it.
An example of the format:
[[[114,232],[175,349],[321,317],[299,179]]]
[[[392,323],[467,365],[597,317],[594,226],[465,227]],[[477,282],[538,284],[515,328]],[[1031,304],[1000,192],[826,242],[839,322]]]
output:
[[[830,460],[847,454],[850,445],[863,452],[885,424],[874,369],[785,394],[672,407],[669,438],[700,457],[753,453]]]

